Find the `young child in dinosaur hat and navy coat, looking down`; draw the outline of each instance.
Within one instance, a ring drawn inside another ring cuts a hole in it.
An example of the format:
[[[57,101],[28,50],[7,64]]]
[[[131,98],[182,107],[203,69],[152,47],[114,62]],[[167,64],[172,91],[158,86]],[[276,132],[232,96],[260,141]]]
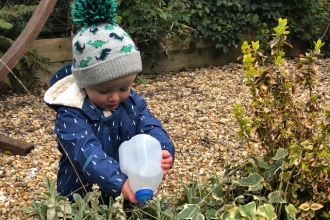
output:
[[[62,153],[57,190],[72,200],[96,183],[105,204],[121,193],[138,203],[120,171],[118,148],[136,134],[148,134],[162,146],[164,177],[174,160],[174,146],[146,102],[131,85],[142,71],[140,52],[116,24],[114,0],[75,0],[73,62],[54,74],[44,100],[56,112],[55,133]],[[72,73],[72,74],[71,74]]]

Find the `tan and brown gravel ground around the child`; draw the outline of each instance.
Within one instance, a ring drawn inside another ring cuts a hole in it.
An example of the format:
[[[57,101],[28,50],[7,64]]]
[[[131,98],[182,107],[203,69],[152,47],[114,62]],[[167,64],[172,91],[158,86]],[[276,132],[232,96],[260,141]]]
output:
[[[320,62],[318,91],[322,104],[329,106],[330,63]],[[292,61],[291,61],[292,62]],[[157,76],[140,76],[134,89],[146,98],[176,145],[173,169],[160,193],[174,194],[183,182],[203,181],[221,175],[222,165],[237,161],[261,149],[238,143],[234,103],[247,105],[249,92],[243,84],[242,65],[185,69]],[[0,220],[20,217],[20,208],[29,206],[45,191],[45,177],[56,178],[59,153],[53,133],[55,112],[41,96],[0,95],[0,134],[34,143],[27,156],[0,153]]]

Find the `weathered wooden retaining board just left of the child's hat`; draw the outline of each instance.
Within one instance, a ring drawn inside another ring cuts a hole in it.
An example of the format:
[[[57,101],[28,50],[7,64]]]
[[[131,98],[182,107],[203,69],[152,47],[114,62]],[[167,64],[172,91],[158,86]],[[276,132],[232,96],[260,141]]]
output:
[[[36,50],[40,56],[47,57],[52,63],[72,61],[71,48],[71,37],[35,40],[31,45],[31,49]]]

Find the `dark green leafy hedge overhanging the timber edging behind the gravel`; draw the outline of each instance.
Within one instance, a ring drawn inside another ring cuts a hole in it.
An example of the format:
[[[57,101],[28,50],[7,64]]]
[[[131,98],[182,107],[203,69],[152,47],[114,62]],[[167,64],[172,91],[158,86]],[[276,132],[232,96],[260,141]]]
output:
[[[244,40],[259,40],[260,50],[267,51],[264,45],[270,39],[269,30],[276,26],[278,17],[285,17],[290,22],[292,31],[288,40],[291,42],[298,40],[312,46],[314,39],[322,37],[323,41],[328,41],[330,37],[326,29],[320,30],[330,22],[329,2],[325,0],[118,2],[119,22],[141,45],[145,56],[155,60],[166,48],[164,39],[169,36],[180,43],[189,39],[197,47],[201,47],[201,38],[212,40],[224,53]],[[327,51],[325,53],[329,56]]]

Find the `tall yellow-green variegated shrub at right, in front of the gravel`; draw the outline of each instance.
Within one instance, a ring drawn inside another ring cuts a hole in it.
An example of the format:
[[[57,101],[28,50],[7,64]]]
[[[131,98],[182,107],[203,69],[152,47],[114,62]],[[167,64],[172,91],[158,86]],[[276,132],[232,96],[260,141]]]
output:
[[[245,83],[251,91],[249,110],[252,116],[244,117],[239,104],[234,114],[241,128],[241,138],[247,145],[261,145],[266,154],[244,164],[240,173],[244,178],[238,183],[247,186],[248,191],[268,195],[269,203],[280,203],[274,206],[280,219],[295,219],[288,210],[299,212],[301,219],[328,218],[329,110],[325,111],[326,120],[320,121],[321,94],[314,90],[319,74],[317,60],[324,43],[314,42],[314,50],[301,57],[292,69],[284,59],[283,46],[290,45],[286,42],[289,34],[286,25],[286,19],[279,19],[279,25],[274,28],[269,61],[258,51],[259,42],[242,45],[244,55],[241,58]],[[247,184],[252,181],[253,185]],[[246,196],[245,201],[249,201]],[[320,209],[322,212],[318,211]]]

